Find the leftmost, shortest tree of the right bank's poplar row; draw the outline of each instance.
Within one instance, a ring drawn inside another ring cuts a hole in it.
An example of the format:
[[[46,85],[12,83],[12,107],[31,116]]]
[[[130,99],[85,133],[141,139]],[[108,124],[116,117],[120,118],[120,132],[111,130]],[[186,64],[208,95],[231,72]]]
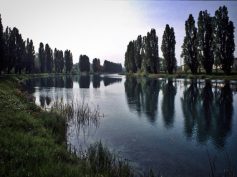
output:
[[[136,72],[136,63],[135,63],[135,46],[134,41],[130,41],[127,46],[127,51],[125,53],[125,63],[124,66],[128,72]]]

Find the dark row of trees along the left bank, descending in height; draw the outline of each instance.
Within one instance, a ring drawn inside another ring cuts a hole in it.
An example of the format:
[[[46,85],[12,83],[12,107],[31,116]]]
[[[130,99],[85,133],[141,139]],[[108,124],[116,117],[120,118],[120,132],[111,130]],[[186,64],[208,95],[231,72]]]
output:
[[[24,40],[19,30],[6,27],[0,15],[0,74],[4,73],[70,73],[73,57],[70,50],[51,49],[49,44],[39,44],[35,52],[33,41]]]

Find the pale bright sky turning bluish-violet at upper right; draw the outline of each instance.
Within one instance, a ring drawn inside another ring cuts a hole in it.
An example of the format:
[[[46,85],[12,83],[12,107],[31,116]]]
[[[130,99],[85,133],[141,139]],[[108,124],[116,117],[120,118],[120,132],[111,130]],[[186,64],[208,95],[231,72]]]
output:
[[[23,38],[48,43],[52,49],[69,49],[73,62],[80,54],[124,64],[127,44],[138,35],[156,29],[159,56],[165,25],[174,27],[178,65],[190,13],[196,22],[200,10],[214,15],[226,5],[230,20],[237,27],[237,1],[165,1],[165,0],[0,0],[3,26],[17,27]],[[236,33],[235,33],[236,34]],[[236,35],[235,35],[236,36]],[[237,38],[235,38],[237,46]],[[237,56],[237,47],[235,50]]]

